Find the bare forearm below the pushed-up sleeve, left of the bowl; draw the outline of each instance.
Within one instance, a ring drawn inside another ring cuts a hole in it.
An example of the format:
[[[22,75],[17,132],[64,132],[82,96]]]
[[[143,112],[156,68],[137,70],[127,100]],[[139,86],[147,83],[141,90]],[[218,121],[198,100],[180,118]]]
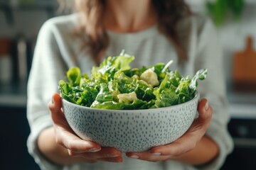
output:
[[[41,132],[37,145],[41,154],[55,164],[74,164],[81,161],[78,157],[70,157],[68,150],[55,142],[53,127]]]

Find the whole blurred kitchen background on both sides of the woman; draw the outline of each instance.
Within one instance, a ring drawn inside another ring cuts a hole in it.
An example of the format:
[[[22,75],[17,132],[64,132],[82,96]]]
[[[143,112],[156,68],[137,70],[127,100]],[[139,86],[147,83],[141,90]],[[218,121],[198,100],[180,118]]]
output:
[[[223,169],[256,169],[256,0],[186,1],[213,19],[223,48],[235,142]],[[38,30],[68,13],[57,0],[0,0],[1,169],[38,169],[26,147],[26,82]]]

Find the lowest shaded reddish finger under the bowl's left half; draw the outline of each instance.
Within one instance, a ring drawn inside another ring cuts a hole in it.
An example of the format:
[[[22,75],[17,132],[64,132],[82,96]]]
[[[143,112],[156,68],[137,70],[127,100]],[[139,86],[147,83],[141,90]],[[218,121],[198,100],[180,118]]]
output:
[[[102,147],[99,152],[94,153],[75,153],[75,157],[85,157],[87,159],[104,159],[122,157],[122,152],[112,147]]]

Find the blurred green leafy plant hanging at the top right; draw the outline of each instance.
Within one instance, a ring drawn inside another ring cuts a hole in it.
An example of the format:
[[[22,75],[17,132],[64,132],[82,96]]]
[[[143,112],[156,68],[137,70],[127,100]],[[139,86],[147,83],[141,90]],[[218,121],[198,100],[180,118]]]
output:
[[[208,14],[213,18],[217,26],[224,23],[228,13],[238,20],[242,16],[244,0],[215,0],[206,1]]]

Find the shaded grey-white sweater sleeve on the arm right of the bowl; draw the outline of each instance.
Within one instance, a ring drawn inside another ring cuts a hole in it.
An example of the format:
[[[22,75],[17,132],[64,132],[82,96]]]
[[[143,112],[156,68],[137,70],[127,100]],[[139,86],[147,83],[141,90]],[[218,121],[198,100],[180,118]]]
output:
[[[202,98],[207,98],[213,108],[213,118],[206,132],[218,147],[219,154],[212,162],[201,169],[220,169],[225,158],[233,150],[233,140],[228,132],[230,113],[225,89],[223,55],[218,43],[218,35],[210,20],[206,20],[198,38],[198,54],[195,69],[208,69],[206,80],[199,83],[198,89]]]

